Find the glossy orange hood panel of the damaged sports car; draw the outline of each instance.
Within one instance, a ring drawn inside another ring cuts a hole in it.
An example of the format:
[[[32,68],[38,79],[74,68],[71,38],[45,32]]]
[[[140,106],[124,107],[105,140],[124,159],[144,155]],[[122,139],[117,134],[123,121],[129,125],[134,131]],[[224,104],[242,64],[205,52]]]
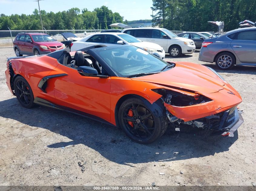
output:
[[[188,62],[176,62],[174,68],[166,72],[131,78],[132,80],[146,81],[154,84],[191,90],[195,92],[214,93],[227,88],[225,83],[207,67]]]

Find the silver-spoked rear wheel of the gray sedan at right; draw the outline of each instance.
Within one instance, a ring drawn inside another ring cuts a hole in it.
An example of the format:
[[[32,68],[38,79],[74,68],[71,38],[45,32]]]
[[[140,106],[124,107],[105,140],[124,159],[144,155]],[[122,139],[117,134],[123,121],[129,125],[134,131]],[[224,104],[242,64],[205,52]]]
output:
[[[231,53],[221,53],[215,59],[216,66],[221,70],[228,70],[235,64],[235,58]]]

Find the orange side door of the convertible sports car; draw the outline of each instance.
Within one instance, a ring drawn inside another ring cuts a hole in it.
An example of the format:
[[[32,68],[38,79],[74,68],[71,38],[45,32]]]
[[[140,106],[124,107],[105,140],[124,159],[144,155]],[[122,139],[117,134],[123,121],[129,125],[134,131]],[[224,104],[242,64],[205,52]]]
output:
[[[67,74],[49,80],[59,105],[110,120],[110,77],[82,76],[77,69],[62,64],[56,70]]]

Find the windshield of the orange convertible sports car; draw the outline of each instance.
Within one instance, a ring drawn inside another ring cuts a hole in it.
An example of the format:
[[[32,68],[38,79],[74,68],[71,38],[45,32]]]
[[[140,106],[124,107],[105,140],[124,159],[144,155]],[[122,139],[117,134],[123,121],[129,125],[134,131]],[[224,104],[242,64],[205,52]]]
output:
[[[121,46],[95,51],[119,77],[141,73],[162,72],[167,62],[135,46]],[[170,69],[168,67],[166,70]],[[165,70],[165,71],[166,71]],[[145,74],[147,75],[147,74]]]

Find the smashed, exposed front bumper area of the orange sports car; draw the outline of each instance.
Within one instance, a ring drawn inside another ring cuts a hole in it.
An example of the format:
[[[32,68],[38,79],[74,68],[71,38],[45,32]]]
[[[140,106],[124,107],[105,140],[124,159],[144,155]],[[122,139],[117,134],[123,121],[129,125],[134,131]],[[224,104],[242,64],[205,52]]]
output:
[[[169,121],[171,123],[175,123],[176,126],[180,127],[180,124],[190,125],[194,128],[209,129],[215,133],[229,137],[233,137],[234,132],[244,122],[241,113],[242,112],[239,111],[235,106],[215,115],[185,122],[184,120],[178,119],[177,117],[171,115],[168,110],[166,111]]]

